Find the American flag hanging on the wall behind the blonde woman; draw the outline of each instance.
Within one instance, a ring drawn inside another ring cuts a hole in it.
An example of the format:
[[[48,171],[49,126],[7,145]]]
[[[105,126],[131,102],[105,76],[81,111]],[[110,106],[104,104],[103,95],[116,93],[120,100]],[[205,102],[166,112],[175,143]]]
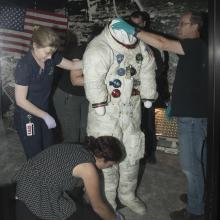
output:
[[[67,18],[59,13],[0,6],[0,52],[26,53],[31,47],[33,27],[39,25],[64,35]]]

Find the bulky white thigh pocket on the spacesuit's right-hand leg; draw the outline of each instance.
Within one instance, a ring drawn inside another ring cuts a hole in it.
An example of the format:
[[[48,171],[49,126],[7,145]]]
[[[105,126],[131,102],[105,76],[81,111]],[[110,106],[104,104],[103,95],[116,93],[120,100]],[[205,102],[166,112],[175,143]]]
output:
[[[139,131],[134,134],[129,134],[123,138],[127,159],[131,164],[135,164],[137,160],[144,157],[145,151],[145,136]]]

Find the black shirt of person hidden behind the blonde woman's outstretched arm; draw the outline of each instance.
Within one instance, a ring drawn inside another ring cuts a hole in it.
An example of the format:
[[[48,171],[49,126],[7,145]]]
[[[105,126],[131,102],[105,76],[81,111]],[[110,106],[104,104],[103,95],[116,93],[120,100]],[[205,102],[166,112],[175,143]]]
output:
[[[69,49],[68,54],[64,56],[68,59],[82,59],[83,53],[85,51],[85,46],[78,46],[74,49]],[[73,86],[70,80],[70,72],[68,70],[57,70],[57,73],[60,74],[58,87],[72,95],[85,96],[85,91],[83,86]]]

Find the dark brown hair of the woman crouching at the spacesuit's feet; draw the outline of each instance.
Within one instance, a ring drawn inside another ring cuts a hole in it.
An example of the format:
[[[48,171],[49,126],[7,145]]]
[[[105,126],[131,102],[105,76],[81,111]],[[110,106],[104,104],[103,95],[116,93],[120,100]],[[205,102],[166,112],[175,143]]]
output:
[[[95,157],[104,158],[105,161],[120,162],[124,157],[124,147],[122,143],[112,136],[89,136],[86,138],[85,147]]]

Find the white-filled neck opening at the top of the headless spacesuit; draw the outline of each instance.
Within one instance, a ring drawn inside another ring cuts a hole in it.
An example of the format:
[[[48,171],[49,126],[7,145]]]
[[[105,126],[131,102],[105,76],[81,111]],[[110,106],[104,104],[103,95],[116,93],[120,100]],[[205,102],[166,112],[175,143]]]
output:
[[[109,31],[110,31],[112,37],[116,41],[118,41],[119,43],[121,43],[123,45],[128,45],[128,46],[135,45],[138,41],[138,39],[136,37],[134,37],[133,35],[127,34],[122,29],[120,29],[120,30],[112,29],[112,25],[117,22],[118,22],[118,19],[113,19],[108,25],[108,28],[109,28]]]

